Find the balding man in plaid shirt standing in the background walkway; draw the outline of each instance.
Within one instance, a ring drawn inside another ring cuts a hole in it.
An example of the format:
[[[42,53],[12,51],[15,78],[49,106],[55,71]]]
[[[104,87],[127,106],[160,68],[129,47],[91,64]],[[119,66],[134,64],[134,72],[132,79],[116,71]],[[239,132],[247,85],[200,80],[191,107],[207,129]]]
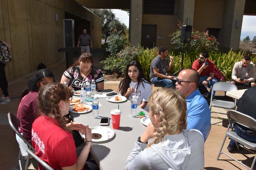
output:
[[[89,34],[87,34],[86,29],[83,30],[83,34],[81,34],[78,38],[77,47],[81,46],[81,54],[84,52],[90,53],[90,45],[92,46],[92,39]]]

